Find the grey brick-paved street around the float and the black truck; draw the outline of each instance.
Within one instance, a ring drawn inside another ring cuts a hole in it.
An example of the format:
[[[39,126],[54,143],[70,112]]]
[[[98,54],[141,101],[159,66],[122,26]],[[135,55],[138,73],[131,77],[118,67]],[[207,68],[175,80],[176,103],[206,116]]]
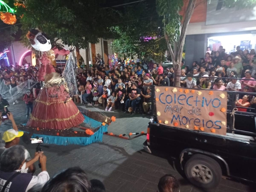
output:
[[[97,111],[93,107],[87,107]],[[8,108],[19,123],[25,123],[26,106],[24,103]],[[102,112],[102,110],[99,110]],[[118,112],[106,112],[108,117],[115,116],[116,122],[108,127],[109,132],[123,134],[130,132],[146,131],[149,118],[141,115],[125,115]],[[0,131],[10,129],[10,124],[1,125]],[[80,166],[88,174],[89,179],[102,180],[107,192],[156,192],[157,183],[164,174],[173,174],[181,184],[181,192],[255,192],[256,187],[248,183],[232,180],[221,180],[221,184],[213,190],[201,190],[184,179],[176,169],[176,160],[158,154],[154,156],[142,149],[146,136],[134,140],[125,140],[108,135],[103,136],[102,143],[89,146],[69,145],[42,146],[47,156],[47,170],[52,177],[60,170],[71,166]],[[22,141],[20,144],[24,144]],[[24,144],[33,156],[36,146]],[[36,174],[39,170],[36,171]]]

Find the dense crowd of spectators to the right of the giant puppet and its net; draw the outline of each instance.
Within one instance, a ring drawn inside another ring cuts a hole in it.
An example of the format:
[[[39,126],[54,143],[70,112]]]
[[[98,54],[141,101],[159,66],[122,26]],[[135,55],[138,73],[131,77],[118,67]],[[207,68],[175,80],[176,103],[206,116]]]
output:
[[[139,62],[136,64],[125,65],[121,61],[118,66],[113,66],[113,70],[108,65],[94,65],[89,71],[80,69],[77,77],[78,89],[82,93],[80,99],[85,105],[98,106],[102,103],[105,111],[119,109],[132,115],[151,114],[151,85],[174,86],[174,69],[164,70],[162,63],[152,61],[144,67]],[[200,62],[194,61],[192,67],[182,62],[180,75],[181,87],[255,92],[255,50],[251,49],[249,53],[238,46],[236,52],[228,55],[222,46],[219,51],[208,48],[205,57],[200,58]],[[80,102],[78,96],[76,98]],[[236,105],[242,103],[244,107],[244,103],[250,103],[252,99],[248,97],[245,102],[243,98],[244,95],[240,95]]]

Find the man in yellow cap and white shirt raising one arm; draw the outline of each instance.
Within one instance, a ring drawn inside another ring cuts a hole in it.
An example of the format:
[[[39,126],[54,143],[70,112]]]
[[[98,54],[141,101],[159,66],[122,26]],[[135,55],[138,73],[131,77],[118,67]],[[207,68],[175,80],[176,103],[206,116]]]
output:
[[[20,143],[20,137],[24,134],[23,131],[18,131],[18,127],[14,121],[12,113],[7,113],[8,119],[12,122],[13,129],[8,129],[4,132],[3,140],[5,142],[5,146],[0,147],[0,154],[4,152],[7,148],[11,146],[17,145]],[[36,155],[35,155],[36,156]],[[38,160],[38,158],[31,158],[28,150],[25,150],[25,159],[26,162],[23,164],[21,168],[21,172],[32,172],[34,173],[36,167],[34,166],[34,162]]]

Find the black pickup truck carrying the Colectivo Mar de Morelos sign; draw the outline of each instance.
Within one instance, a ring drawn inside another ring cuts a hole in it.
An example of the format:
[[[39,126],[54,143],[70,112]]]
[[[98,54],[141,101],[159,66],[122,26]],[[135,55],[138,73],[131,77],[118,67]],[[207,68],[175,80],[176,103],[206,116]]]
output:
[[[178,159],[186,178],[201,188],[218,186],[222,175],[256,182],[256,114],[234,111],[236,94],[228,92],[225,135],[163,125],[155,115],[148,124],[144,150],[171,154]],[[156,97],[152,98],[156,103]]]

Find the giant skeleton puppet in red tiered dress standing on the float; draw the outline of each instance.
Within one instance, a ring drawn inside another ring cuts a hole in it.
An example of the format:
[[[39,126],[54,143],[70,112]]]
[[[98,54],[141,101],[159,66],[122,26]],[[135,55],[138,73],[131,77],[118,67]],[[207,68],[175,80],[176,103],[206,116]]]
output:
[[[84,116],[68,94],[65,80],[52,66],[56,54],[66,55],[69,51],[54,47],[46,34],[32,29],[27,34],[31,46],[36,49],[42,66],[38,71],[38,80],[44,81],[27,126],[41,129],[66,129],[75,127],[84,121]]]

